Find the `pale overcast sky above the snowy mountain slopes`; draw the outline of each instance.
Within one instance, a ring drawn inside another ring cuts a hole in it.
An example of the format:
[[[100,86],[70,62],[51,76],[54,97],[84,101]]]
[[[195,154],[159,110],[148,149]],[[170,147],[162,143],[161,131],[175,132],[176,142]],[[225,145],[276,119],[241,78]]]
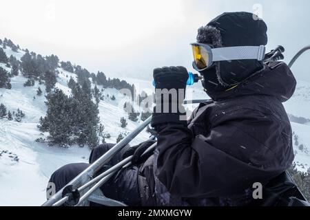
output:
[[[197,29],[223,12],[256,12],[265,20],[271,50],[285,46],[286,61],[310,45],[308,0],[1,1],[0,38],[43,55],[56,54],[90,72],[150,78],[152,69],[192,70],[189,43]],[[310,52],[293,71],[310,80]]]

